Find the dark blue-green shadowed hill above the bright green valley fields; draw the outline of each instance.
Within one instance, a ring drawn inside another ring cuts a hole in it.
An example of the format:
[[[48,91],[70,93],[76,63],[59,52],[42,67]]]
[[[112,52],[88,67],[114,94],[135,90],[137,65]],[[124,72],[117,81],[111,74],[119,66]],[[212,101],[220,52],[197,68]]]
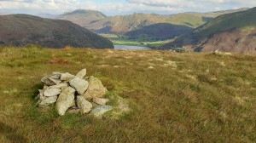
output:
[[[143,41],[159,41],[172,39],[180,35],[193,31],[189,26],[172,25],[168,23],[159,23],[150,26],[144,26],[135,31],[129,31],[125,35],[130,39],[139,39]]]

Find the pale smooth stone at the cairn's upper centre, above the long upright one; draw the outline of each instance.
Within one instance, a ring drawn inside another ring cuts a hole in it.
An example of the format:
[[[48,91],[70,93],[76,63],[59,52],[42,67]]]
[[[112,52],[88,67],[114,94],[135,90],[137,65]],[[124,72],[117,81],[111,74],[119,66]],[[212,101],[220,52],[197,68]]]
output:
[[[88,89],[89,83],[79,77],[73,78],[70,82],[70,86],[76,89],[79,94],[84,94],[85,90]]]

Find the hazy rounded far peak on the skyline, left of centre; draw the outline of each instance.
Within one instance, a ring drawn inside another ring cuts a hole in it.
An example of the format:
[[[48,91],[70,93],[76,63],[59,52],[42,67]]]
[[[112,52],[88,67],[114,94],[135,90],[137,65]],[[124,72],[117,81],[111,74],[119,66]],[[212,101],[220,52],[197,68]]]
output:
[[[70,20],[73,23],[78,24],[79,26],[86,27],[90,24],[90,22],[95,20],[102,20],[105,19],[107,16],[102,14],[99,11],[94,10],[85,10],[85,9],[77,9],[75,11],[61,14],[56,17],[59,20]]]

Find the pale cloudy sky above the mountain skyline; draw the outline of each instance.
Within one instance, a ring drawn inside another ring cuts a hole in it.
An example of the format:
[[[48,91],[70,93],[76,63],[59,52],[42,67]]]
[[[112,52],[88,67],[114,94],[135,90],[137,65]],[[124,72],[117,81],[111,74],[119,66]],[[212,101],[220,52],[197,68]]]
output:
[[[14,14],[63,14],[75,9],[92,9],[112,16],[212,12],[253,7],[256,7],[256,0],[0,0],[0,12]]]

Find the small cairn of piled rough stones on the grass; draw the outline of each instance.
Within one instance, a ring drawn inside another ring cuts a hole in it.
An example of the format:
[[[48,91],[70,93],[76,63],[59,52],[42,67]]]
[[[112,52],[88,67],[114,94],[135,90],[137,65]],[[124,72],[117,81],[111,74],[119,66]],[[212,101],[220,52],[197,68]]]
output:
[[[106,105],[109,100],[104,98],[108,90],[98,78],[85,75],[86,69],[83,69],[76,76],[68,72],[53,72],[43,77],[44,89],[39,89],[37,105],[55,105],[61,116],[70,112],[101,117],[111,111],[113,107]]]

